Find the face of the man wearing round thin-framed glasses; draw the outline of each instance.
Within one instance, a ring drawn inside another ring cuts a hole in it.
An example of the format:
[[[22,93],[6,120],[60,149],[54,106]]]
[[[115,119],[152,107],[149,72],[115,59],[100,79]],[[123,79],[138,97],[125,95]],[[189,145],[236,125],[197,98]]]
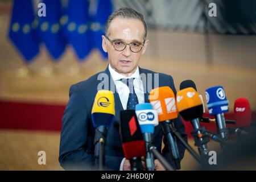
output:
[[[117,42],[143,43],[144,26],[138,19],[116,17],[110,23],[107,36],[110,40]],[[105,52],[108,52],[110,66],[125,76],[135,72],[141,55],[146,51],[147,44],[148,40],[144,43],[141,51],[137,53],[132,52],[129,45],[123,51],[117,51],[114,49],[113,44],[105,36],[102,36],[102,48]]]

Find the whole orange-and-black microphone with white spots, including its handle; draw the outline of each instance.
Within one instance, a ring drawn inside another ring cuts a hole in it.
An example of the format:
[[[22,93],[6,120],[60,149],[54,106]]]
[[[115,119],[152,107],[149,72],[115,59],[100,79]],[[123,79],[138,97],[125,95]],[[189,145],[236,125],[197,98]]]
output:
[[[203,135],[205,127],[200,126],[199,118],[203,116],[203,104],[199,94],[192,87],[185,88],[177,92],[177,109],[185,121],[190,121],[193,126],[192,135],[199,154],[204,161],[208,160],[207,143],[209,138]]]

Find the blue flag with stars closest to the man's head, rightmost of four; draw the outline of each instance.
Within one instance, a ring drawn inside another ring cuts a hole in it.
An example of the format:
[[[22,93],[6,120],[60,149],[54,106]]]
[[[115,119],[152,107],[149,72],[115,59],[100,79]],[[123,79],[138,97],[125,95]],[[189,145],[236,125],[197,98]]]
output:
[[[108,53],[102,49],[102,35],[105,35],[105,23],[109,15],[112,14],[113,6],[110,0],[94,0],[90,3],[90,42],[97,48],[104,59],[108,58]]]

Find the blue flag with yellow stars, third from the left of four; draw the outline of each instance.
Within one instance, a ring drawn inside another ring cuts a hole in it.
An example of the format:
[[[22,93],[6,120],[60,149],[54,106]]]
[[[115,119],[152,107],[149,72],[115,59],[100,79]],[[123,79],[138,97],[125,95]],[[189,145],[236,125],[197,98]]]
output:
[[[88,34],[88,9],[88,0],[68,2],[65,32],[68,42],[72,45],[79,61],[84,60],[92,49],[89,43]]]

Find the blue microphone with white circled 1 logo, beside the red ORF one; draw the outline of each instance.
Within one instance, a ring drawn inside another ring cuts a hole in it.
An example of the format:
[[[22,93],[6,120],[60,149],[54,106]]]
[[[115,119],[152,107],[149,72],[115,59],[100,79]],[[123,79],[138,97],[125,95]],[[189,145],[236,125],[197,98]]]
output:
[[[224,113],[229,111],[229,101],[222,86],[213,86],[205,90],[207,98],[207,107],[210,115],[214,115],[217,124],[217,133],[221,138],[228,138]]]

